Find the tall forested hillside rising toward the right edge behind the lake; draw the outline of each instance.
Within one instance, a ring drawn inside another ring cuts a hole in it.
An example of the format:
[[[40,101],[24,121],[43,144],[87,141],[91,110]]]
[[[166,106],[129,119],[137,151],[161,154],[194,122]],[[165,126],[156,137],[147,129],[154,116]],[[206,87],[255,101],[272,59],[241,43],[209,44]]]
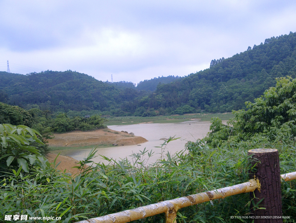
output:
[[[296,33],[266,39],[231,58],[212,61],[207,70],[192,73],[181,81],[158,85],[147,98],[149,107],[175,109],[185,104],[206,111],[231,111],[244,107],[264,90],[275,85],[276,77],[296,72]]]

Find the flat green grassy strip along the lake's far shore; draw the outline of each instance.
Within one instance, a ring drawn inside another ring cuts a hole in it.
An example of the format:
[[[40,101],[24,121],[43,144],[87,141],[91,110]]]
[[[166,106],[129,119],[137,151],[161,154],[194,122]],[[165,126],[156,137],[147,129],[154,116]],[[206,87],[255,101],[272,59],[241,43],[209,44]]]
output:
[[[125,116],[125,117],[111,117],[108,118],[105,125],[132,125],[143,122],[149,123],[176,123],[185,122],[190,119],[200,119],[200,121],[210,121],[213,117],[219,117],[222,120],[229,120],[234,117],[231,113],[198,113],[198,114],[183,114],[183,115],[159,115],[153,117],[136,117],[136,116]]]

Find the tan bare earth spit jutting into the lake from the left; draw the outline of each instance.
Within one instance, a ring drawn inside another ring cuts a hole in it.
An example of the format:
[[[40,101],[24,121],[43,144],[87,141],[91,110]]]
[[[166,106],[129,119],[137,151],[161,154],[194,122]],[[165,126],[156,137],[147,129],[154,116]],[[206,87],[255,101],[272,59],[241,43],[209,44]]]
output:
[[[100,129],[90,132],[72,131],[67,133],[54,133],[54,138],[48,140],[51,147],[81,147],[90,145],[112,145],[113,143],[120,146],[123,145],[137,145],[139,143],[147,142],[141,136],[130,135],[125,132],[118,132],[111,129]]]

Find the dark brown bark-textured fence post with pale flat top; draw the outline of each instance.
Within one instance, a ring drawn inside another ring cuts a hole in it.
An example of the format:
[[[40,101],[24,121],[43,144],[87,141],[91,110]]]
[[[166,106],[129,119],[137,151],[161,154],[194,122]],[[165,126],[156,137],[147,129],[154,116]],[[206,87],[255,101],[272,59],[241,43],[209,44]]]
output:
[[[256,218],[254,223],[260,222],[283,222],[282,205],[281,205],[281,174],[279,168],[279,151],[277,149],[251,149],[248,155],[252,156],[252,165],[257,161],[257,172],[251,174],[256,180],[259,180],[261,188],[255,190],[255,204],[260,202],[259,207],[266,209],[256,209],[252,211],[253,216],[279,216],[280,218]],[[255,158],[255,160],[254,160]],[[254,198],[253,192],[250,194]],[[252,207],[252,204],[251,204]]]

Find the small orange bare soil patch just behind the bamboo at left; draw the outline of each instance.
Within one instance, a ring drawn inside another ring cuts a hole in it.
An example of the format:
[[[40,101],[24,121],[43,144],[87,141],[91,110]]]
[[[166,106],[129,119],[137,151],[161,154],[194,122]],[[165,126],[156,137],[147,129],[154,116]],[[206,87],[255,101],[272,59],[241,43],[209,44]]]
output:
[[[48,159],[48,161],[50,163],[53,163],[54,159],[57,157],[57,154],[47,153],[45,157]],[[57,157],[57,160],[56,160],[56,165],[59,162],[61,162],[61,163],[57,166],[58,170],[61,170],[62,172],[64,172],[64,170],[66,170],[66,173],[71,173],[71,174],[80,173],[80,170],[78,170],[77,168],[72,168],[72,167],[75,167],[75,166],[80,166],[78,164],[79,163],[78,160],[73,159],[72,157],[69,157],[69,156],[61,156],[61,155],[59,155]],[[86,166],[86,167],[88,167],[88,166]]]

